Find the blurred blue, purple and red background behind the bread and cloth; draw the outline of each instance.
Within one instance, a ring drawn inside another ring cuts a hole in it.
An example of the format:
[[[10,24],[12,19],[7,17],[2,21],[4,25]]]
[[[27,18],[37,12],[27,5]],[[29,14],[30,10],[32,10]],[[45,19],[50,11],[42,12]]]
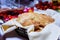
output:
[[[8,16],[11,18],[11,15],[18,15],[23,12],[34,11],[34,10],[46,10],[53,9],[60,12],[60,0],[0,0],[0,10],[6,11],[13,9],[14,13],[0,12],[0,18],[4,15],[3,18]],[[17,12],[17,13],[16,13]]]

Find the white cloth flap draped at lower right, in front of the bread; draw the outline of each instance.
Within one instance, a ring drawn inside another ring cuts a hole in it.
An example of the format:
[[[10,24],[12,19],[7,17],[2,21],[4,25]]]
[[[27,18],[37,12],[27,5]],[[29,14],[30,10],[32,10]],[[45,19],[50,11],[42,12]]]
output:
[[[55,24],[49,24],[41,32],[28,33],[30,40],[57,40],[60,28]]]

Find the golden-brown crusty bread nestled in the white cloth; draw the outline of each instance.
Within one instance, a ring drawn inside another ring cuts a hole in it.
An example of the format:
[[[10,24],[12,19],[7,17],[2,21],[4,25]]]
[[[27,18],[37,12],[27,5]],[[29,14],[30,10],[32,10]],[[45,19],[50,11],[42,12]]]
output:
[[[17,21],[23,26],[34,24],[35,31],[42,30],[47,24],[54,22],[54,19],[45,14],[23,13],[18,16]]]

